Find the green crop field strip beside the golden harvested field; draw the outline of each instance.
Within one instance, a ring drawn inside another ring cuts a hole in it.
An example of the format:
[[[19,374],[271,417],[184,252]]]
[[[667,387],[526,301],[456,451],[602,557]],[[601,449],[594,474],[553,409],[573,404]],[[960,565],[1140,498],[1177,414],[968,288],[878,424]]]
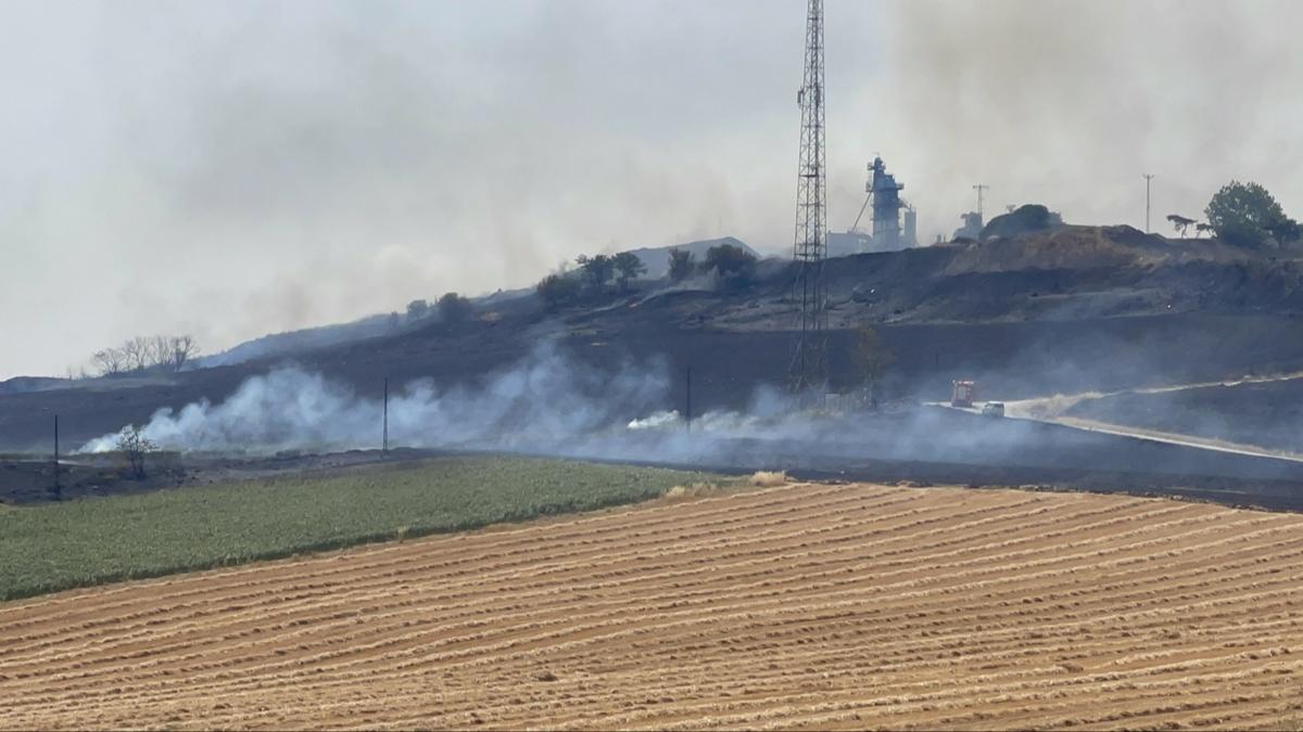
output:
[[[701,473],[446,457],[0,508],[0,599],[648,500]]]

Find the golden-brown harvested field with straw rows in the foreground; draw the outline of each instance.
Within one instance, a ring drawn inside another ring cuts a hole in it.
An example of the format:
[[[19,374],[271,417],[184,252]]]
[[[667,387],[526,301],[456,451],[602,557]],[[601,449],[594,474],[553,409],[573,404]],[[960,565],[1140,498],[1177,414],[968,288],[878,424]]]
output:
[[[1303,516],[797,485],[0,606],[0,727],[1263,727]]]

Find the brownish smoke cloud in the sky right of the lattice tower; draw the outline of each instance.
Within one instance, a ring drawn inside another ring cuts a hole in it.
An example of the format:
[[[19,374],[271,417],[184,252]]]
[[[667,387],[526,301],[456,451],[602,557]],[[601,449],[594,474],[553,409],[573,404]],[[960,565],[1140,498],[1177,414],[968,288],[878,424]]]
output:
[[[1295,216],[1303,182],[1303,5],[1293,0],[921,0],[891,5],[890,48],[856,102],[876,142],[949,234],[976,207],[1045,203],[1070,223],[1201,218],[1230,178]],[[833,10],[830,10],[831,13]],[[831,52],[830,52],[831,53]],[[885,109],[883,109],[885,108]],[[830,134],[833,132],[830,130]]]

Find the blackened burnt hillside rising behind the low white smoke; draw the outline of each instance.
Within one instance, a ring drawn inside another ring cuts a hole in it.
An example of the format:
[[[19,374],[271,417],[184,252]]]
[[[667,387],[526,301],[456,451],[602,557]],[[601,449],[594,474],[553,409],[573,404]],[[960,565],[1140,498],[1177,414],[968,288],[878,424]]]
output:
[[[1303,370],[1303,272],[1291,251],[1167,240],[1128,227],[1062,227],[829,260],[834,388],[857,379],[855,330],[872,326],[895,354],[889,391],[937,400],[976,378],[990,399],[1020,399]],[[457,326],[430,323],[341,345],[147,378],[0,393],[0,448],[48,451],[53,414],[64,442],[142,423],[159,408],[220,401],[246,378],[293,361],[358,393],[383,379],[473,383],[555,340],[605,367],[665,358],[691,366],[696,409],[739,408],[784,380],[791,272],[761,263],[726,290],[637,283],[550,311],[532,296],[491,302]],[[666,408],[685,397],[675,382]]]

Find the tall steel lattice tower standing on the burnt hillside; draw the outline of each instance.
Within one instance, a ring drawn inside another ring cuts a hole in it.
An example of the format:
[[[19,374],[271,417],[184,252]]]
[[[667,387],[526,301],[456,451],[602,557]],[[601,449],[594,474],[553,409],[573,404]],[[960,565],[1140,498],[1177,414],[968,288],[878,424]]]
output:
[[[809,0],[805,18],[805,76],[796,103],[801,108],[800,162],[796,169],[796,281],[800,340],[792,357],[792,389],[823,391],[827,384],[827,298],[823,255],[827,233],[827,185],[823,135],[823,0]]]

